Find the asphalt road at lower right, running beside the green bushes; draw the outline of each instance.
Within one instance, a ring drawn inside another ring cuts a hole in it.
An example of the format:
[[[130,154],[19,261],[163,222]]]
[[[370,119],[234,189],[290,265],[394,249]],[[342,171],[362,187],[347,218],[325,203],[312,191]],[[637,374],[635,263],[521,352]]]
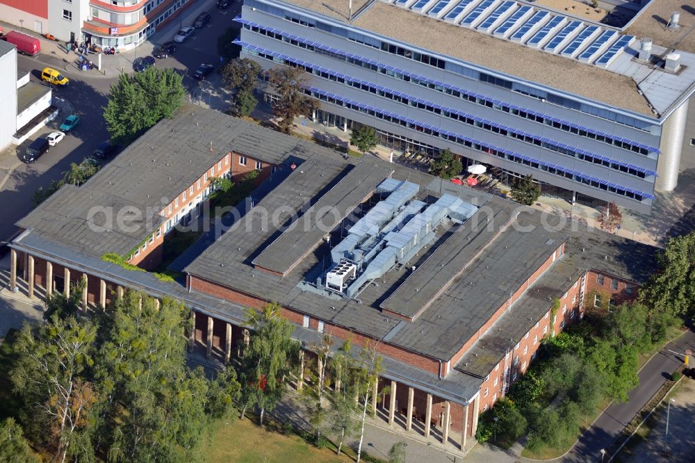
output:
[[[635,414],[646,405],[654,394],[666,382],[667,377],[682,365],[682,357],[668,350],[685,352],[695,350],[695,332],[683,334],[675,343],[669,343],[644,368],[639,371],[639,386],[629,394],[626,403],[613,403],[601,414],[591,428],[586,430],[572,450],[562,458],[563,462],[598,462],[600,450],[608,448],[615,441],[623,428],[630,423]]]

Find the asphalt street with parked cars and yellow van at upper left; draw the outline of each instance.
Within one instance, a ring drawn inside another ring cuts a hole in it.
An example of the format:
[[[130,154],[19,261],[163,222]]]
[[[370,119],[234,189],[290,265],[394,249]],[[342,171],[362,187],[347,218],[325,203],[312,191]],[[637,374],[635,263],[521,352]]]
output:
[[[213,17],[211,23],[202,29],[196,29],[193,37],[188,38],[182,44],[177,44],[177,51],[173,56],[157,60],[156,66],[174,67],[180,70],[184,76],[183,83],[186,88],[189,90],[195,88],[198,82],[193,79],[193,72],[202,63],[219,64],[218,36],[231,26],[238,29],[238,23],[234,23],[232,19],[238,15],[240,8],[240,3],[233,3],[227,10],[211,8],[210,13]],[[188,23],[193,22],[193,19],[195,17],[189,19]],[[189,24],[184,20],[183,26],[187,25]],[[172,38],[173,33],[165,31],[154,34],[150,41],[161,44],[172,40]],[[142,47],[142,49],[147,49],[147,47]],[[104,57],[104,59],[108,58]],[[60,66],[62,62],[60,58],[49,55],[39,55],[35,58],[19,55],[17,59],[20,68],[33,70],[31,80],[39,83],[39,72],[43,67],[47,65]],[[133,61],[137,62],[136,60]],[[0,154],[3,156],[0,162],[0,204],[3,204],[0,207],[0,242],[6,241],[17,232],[15,222],[31,211],[33,207],[31,197],[35,190],[39,187],[45,189],[51,184],[51,181],[61,179],[64,172],[70,168],[70,163],[81,162],[92,154],[99,143],[108,140],[106,124],[101,114],[103,113],[102,108],[106,106],[108,101],[111,84],[115,80],[115,78],[88,76],[81,78],[79,74],[70,74],[70,86],[55,88],[54,96],[63,97],[70,101],[75,113],[81,117],[79,127],[58,145],[51,147],[36,163],[24,164],[19,161],[18,156],[10,159],[6,153]],[[220,83],[220,75],[211,74],[207,80],[208,84],[216,86]],[[58,121],[56,121],[58,125],[64,117],[64,114],[60,114]],[[48,134],[56,128],[46,127],[42,129],[20,145],[17,152],[23,152],[32,140]]]

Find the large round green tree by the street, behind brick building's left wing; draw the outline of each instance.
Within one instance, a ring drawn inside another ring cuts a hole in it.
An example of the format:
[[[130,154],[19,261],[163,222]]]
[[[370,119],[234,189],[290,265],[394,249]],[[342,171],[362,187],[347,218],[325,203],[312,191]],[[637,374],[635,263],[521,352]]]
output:
[[[183,76],[173,68],[148,67],[132,76],[121,74],[111,86],[104,119],[111,138],[130,143],[183,103]]]

